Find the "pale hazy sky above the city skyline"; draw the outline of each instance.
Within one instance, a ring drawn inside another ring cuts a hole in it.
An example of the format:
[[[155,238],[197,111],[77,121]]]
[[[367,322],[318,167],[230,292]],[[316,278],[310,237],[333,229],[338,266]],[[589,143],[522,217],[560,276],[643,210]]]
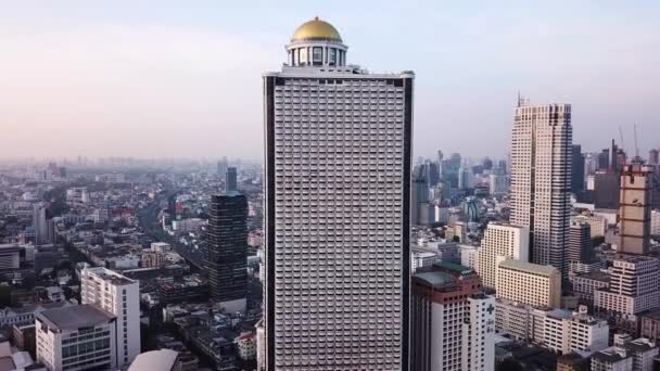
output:
[[[660,146],[660,1],[0,0],[0,157],[262,156],[262,72],[315,15],[416,72],[415,152],[508,151],[517,91],[586,150]]]

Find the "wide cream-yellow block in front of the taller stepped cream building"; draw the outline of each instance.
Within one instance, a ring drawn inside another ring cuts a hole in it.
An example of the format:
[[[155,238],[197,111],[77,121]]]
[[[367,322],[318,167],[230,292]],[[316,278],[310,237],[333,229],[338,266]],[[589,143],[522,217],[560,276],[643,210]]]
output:
[[[561,273],[553,266],[506,259],[497,266],[497,297],[535,307],[558,308]]]

